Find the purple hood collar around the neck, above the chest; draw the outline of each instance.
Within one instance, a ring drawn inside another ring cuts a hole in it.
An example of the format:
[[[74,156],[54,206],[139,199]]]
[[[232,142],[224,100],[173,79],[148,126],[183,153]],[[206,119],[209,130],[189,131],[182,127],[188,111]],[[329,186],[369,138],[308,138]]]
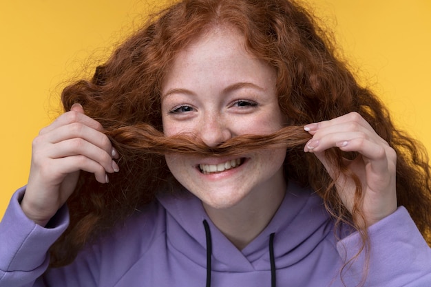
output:
[[[167,211],[169,244],[201,266],[207,264],[207,241],[202,225],[207,220],[212,239],[212,269],[220,272],[269,270],[271,233],[275,233],[277,268],[284,268],[303,259],[333,232],[322,199],[294,182],[288,183],[284,200],[268,226],[242,251],[214,226],[202,202],[193,194],[186,191],[176,196],[159,196],[158,200]]]

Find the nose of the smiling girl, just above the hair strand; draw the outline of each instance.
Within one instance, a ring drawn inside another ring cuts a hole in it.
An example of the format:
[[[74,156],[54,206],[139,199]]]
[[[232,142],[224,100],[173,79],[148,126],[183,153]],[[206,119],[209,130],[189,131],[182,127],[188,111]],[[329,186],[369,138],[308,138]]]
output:
[[[232,137],[229,123],[220,117],[206,116],[200,123],[200,138],[209,147],[217,147]]]

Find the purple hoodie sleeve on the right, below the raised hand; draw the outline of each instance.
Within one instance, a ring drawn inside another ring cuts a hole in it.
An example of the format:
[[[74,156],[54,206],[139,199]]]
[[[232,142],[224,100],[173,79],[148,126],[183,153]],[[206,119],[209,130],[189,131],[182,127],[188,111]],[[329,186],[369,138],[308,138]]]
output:
[[[364,278],[365,286],[372,287],[431,286],[431,248],[403,206],[370,226],[368,235],[368,259],[364,251],[357,255],[361,245],[359,233],[337,243],[337,251],[346,262],[342,275],[347,286]]]

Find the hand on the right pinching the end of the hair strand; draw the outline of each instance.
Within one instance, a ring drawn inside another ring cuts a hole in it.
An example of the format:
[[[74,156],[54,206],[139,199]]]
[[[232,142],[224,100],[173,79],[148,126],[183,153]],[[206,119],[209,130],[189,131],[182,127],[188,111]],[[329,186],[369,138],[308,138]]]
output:
[[[370,226],[397,209],[395,173],[397,154],[359,114],[352,112],[332,120],[313,123],[304,127],[313,138],[305,152],[314,153],[324,164],[335,185],[341,201],[352,212],[355,198],[355,182],[351,177],[340,174],[330,164],[324,151],[331,147],[341,151],[356,151],[354,160],[344,159],[347,169],[359,178],[362,184],[362,204],[359,209],[364,215],[364,224]]]

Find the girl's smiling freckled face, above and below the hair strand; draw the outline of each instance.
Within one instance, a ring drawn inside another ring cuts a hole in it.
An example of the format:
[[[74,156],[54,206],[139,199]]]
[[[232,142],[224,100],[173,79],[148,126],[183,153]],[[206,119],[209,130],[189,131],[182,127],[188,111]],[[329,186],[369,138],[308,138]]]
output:
[[[162,85],[166,136],[193,133],[210,147],[242,134],[271,134],[286,122],[275,71],[244,49],[235,30],[214,28],[180,51]],[[285,192],[286,149],[242,158],[166,156],[175,178],[204,206],[224,209],[266,193]]]

